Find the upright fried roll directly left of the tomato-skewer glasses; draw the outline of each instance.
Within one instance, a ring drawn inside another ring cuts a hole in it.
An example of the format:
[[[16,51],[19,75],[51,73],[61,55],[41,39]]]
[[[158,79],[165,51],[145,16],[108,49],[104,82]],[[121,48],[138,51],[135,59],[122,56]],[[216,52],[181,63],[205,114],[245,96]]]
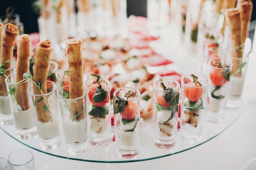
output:
[[[83,95],[83,64],[82,64],[82,40],[66,40],[66,54],[68,58],[68,77],[70,84],[70,99],[76,99]],[[76,103],[70,104],[70,110],[73,116],[79,114],[76,118],[80,121],[84,118],[83,99],[76,100]]]

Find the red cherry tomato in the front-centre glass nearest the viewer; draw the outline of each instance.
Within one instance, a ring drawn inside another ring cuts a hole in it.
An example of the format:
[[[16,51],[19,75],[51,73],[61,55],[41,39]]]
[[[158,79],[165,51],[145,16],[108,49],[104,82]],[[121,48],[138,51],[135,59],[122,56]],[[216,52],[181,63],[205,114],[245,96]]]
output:
[[[137,116],[137,104],[128,100],[128,104],[125,106],[124,110],[120,113],[121,117],[126,120],[134,119]]]

